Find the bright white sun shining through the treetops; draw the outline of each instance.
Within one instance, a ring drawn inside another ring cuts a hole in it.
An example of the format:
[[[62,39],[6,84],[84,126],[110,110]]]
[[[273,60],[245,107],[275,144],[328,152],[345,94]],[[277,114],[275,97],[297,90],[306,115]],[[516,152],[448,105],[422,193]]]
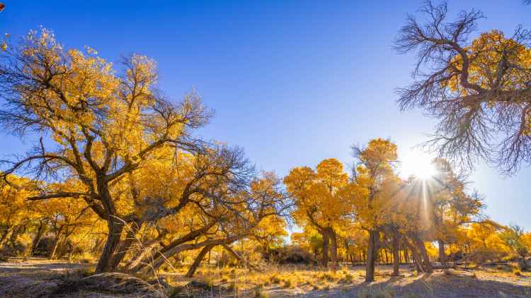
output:
[[[401,159],[400,174],[403,178],[414,176],[418,179],[430,179],[436,174],[433,157],[426,153],[411,151]]]

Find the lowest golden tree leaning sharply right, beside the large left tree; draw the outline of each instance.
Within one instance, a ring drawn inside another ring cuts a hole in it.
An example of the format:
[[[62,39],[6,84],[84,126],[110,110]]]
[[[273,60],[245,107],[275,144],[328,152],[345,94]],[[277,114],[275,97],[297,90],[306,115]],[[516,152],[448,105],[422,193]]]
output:
[[[244,189],[227,192],[224,191],[224,186],[220,186],[221,189],[208,190],[216,192],[219,197],[216,201],[210,196],[195,198],[198,201],[194,200],[190,204],[193,211],[188,211],[190,230],[171,233],[169,241],[164,241],[159,249],[140,256],[131,264],[129,270],[156,270],[169,258],[183,251],[204,247],[210,250],[215,246],[228,246],[241,239],[253,237],[253,234],[263,228],[263,220],[285,215],[283,212],[289,205],[286,204],[287,196],[280,186],[281,181],[274,174],[263,173]],[[169,220],[170,224],[175,225],[175,220]],[[199,222],[199,225],[194,222]],[[198,258],[202,259],[207,251],[200,252]],[[195,266],[198,265],[199,261],[195,263]],[[195,268],[191,269],[190,275],[193,275],[194,271]]]

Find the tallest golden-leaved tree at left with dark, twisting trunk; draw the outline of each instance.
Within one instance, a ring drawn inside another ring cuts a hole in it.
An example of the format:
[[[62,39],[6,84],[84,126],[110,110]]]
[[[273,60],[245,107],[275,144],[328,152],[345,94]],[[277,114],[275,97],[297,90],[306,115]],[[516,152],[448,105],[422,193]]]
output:
[[[93,49],[64,49],[45,29],[8,47],[0,63],[0,96],[6,102],[2,126],[21,136],[29,131],[50,136],[26,156],[8,161],[2,177],[8,180],[9,174],[25,170],[43,180],[79,179],[83,187],[78,191],[42,189],[31,199],[78,198],[107,222],[96,273],[115,270],[111,261],[123,222],[134,217],[117,208],[113,185],[147,160],[161,158],[159,153],[171,152],[168,148],[202,150],[190,131],[211,115],[195,93],[177,104],[162,97],[154,89],[155,63],[147,57],[133,54],[122,66],[118,75]],[[56,147],[47,148],[48,143]]]

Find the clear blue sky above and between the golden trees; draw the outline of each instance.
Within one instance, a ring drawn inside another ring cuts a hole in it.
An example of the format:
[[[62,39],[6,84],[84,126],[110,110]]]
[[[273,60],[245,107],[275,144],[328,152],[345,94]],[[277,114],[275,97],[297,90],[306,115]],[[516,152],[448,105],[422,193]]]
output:
[[[3,1],[0,33],[43,25],[66,47],[89,45],[110,61],[137,52],[159,63],[160,88],[176,99],[197,88],[216,111],[200,133],[244,147],[259,169],[336,157],[350,145],[389,137],[406,153],[434,122],[401,113],[394,88],[407,85],[413,56],[392,41],[421,1]],[[521,0],[449,1],[450,15],[479,8],[480,30],[531,28]],[[0,132],[0,156],[30,142]],[[531,170],[504,178],[479,165],[474,187],[487,213],[531,230]]]

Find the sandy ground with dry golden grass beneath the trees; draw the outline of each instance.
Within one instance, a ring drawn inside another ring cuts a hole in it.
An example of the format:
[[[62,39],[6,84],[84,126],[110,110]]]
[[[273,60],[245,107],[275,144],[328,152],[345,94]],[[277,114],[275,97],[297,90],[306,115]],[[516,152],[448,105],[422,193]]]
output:
[[[86,278],[90,270],[89,264],[14,258],[0,263],[0,297],[157,296],[156,285],[135,280],[86,282],[94,280]],[[169,297],[531,297],[531,273],[516,275],[500,268],[435,270],[430,275],[417,275],[404,266],[402,276],[392,277],[389,266],[379,266],[377,273],[376,281],[370,284],[363,280],[362,267],[333,272],[270,266],[264,273],[200,268],[194,278],[199,282],[192,283],[181,272],[163,273],[161,277],[174,287],[166,292]]]

